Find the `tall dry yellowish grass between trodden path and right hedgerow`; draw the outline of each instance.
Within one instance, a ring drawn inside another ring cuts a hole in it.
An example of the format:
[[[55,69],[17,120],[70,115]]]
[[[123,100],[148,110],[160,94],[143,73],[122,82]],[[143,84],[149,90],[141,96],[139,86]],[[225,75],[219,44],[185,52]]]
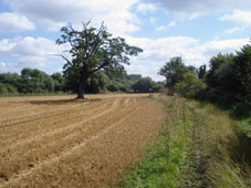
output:
[[[247,146],[247,143],[234,132],[237,122],[211,104],[201,106],[200,103],[194,102],[194,105],[197,114],[201,114],[200,118],[206,119],[201,136],[207,140],[206,153],[210,154],[206,170],[208,187],[250,187],[250,164],[245,161],[251,157],[251,153],[245,155],[243,160],[239,160],[245,153],[243,146]],[[249,150],[249,147],[245,149]]]

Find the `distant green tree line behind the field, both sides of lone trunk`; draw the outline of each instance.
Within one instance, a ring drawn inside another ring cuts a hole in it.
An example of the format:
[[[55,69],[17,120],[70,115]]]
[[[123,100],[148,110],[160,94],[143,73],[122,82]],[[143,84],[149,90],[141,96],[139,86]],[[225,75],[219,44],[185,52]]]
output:
[[[150,77],[140,74],[119,74],[108,71],[97,71],[86,81],[86,93],[158,92],[163,83],[156,83]],[[15,96],[22,94],[77,93],[79,83],[75,74],[69,72],[46,74],[38,69],[23,69],[21,74],[0,73],[0,95]]]

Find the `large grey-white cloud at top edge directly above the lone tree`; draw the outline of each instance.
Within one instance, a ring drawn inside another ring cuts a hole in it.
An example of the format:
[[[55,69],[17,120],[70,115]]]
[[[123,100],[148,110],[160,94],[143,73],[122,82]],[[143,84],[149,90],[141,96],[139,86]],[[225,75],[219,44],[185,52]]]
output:
[[[32,19],[41,28],[57,30],[92,20],[95,27],[105,22],[112,33],[137,31],[139,20],[129,9],[139,0],[8,0],[13,11]]]

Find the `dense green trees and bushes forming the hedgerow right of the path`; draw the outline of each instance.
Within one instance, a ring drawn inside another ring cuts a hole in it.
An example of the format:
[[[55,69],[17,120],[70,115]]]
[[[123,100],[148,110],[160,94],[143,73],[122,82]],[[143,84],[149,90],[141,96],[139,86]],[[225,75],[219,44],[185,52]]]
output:
[[[177,92],[186,97],[207,100],[222,105],[251,106],[251,45],[236,54],[212,56],[209,69],[186,66],[180,56],[171,58],[159,71],[166,77],[169,94]]]

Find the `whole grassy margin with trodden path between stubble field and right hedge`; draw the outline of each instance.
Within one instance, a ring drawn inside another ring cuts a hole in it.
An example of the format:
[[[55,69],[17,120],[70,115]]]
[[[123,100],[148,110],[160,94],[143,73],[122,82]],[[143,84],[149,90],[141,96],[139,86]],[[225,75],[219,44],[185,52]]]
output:
[[[119,187],[251,187],[250,143],[234,132],[237,122],[211,104],[157,100],[166,105],[166,125]]]

